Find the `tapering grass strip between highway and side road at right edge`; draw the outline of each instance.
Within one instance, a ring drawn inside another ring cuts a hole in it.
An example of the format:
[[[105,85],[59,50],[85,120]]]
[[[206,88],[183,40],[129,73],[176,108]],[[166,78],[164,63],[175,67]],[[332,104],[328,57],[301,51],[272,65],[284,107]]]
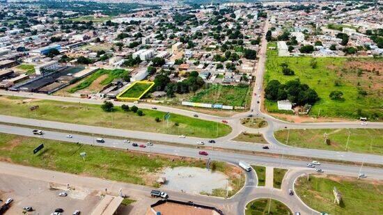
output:
[[[288,145],[299,148],[345,151],[383,155],[383,129],[290,129],[274,133],[275,138]],[[325,134],[330,142],[325,143]]]

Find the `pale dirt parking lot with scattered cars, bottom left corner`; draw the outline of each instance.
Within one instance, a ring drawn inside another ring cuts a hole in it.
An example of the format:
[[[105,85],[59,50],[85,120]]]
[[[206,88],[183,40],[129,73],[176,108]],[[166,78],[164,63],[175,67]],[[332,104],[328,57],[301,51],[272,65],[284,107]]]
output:
[[[62,191],[67,192],[68,196],[58,196]],[[91,190],[78,187],[68,190],[62,185],[1,174],[0,199],[5,201],[8,198],[13,198],[13,202],[5,214],[22,214],[23,207],[27,206],[33,208],[33,212],[27,214],[51,214],[56,208],[63,209],[62,214],[72,214],[75,210],[91,214],[100,201],[100,196]]]

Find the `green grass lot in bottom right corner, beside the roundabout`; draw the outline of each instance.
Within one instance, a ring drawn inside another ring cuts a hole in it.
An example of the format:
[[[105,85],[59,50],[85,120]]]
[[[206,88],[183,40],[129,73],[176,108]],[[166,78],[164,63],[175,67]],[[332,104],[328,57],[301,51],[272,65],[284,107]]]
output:
[[[341,193],[334,204],[333,189]],[[338,175],[299,177],[295,191],[308,207],[328,214],[383,214],[383,181],[357,180]]]

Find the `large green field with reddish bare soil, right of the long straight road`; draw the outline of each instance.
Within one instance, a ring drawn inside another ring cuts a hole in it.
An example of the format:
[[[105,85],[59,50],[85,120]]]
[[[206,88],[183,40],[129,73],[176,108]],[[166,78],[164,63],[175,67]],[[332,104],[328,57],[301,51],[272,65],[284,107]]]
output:
[[[275,46],[275,43],[269,43]],[[317,66],[311,67],[310,56],[280,57],[276,50],[267,50],[265,83],[276,79],[281,83],[299,79],[319,95],[310,116],[359,118],[382,120],[383,58],[315,58]],[[286,63],[295,75],[286,76],[281,64]],[[343,100],[332,100],[331,91],[343,93]],[[271,102],[274,103],[274,102]],[[267,111],[275,106],[265,102]]]

